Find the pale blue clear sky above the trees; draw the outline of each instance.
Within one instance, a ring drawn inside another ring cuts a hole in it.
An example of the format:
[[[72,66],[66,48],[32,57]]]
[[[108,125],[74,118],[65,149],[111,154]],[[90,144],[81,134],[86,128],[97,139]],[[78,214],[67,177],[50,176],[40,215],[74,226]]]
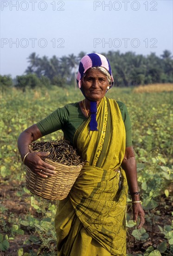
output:
[[[13,78],[32,52],[173,53],[172,0],[0,0],[0,14],[0,74]]]

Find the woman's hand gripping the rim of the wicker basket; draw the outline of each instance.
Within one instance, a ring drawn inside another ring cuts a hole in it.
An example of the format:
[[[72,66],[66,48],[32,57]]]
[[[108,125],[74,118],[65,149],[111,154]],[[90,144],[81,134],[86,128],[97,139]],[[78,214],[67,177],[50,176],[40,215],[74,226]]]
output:
[[[55,167],[42,160],[48,156],[49,152],[32,152],[26,155],[25,165],[29,167],[37,175],[47,178],[56,174]]]

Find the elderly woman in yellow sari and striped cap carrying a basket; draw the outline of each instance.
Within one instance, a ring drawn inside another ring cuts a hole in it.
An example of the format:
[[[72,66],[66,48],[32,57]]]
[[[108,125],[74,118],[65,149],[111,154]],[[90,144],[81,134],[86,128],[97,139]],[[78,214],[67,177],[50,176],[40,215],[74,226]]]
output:
[[[23,162],[42,177],[55,174],[54,167],[42,160],[48,153],[29,153],[28,145],[58,129],[85,161],[70,194],[58,203],[58,256],[126,255],[128,188],[134,222],[139,216],[138,229],[144,223],[127,108],[105,97],[113,81],[103,55],[84,56],[77,74],[84,100],[58,108],[19,136]]]

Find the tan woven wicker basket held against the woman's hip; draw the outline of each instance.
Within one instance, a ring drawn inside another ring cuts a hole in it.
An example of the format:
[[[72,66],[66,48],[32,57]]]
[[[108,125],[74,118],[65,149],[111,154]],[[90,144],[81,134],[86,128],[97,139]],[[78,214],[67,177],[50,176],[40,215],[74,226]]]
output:
[[[56,167],[56,175],[42,178],[26,167],[26,188],[34,195],[49,200],[63,200],[70,192],[75,183],[83,164],[63,165],[45,158],[46,163]]]

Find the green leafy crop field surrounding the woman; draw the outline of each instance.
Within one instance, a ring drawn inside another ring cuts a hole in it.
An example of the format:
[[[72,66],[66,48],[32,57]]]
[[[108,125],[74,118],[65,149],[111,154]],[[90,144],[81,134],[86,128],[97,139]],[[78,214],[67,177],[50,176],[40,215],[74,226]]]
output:
[[[146,213],[143,228],[137,230],[128,203],[128,256],[173,255],[173,92],[112,88],[107,96],[123,101],[128,108],[141,201]],[[26,189],[26,167],[18,153],[17,138],[20,132],[56,108],[82,99],[79,89],[56,86],[28,88],[25,92],[15,88],[2,91],[0,255],[56,255],[53,222],[58,202],[34,196]],[[62,136],[62,132],[57,131],[41,140]]]

